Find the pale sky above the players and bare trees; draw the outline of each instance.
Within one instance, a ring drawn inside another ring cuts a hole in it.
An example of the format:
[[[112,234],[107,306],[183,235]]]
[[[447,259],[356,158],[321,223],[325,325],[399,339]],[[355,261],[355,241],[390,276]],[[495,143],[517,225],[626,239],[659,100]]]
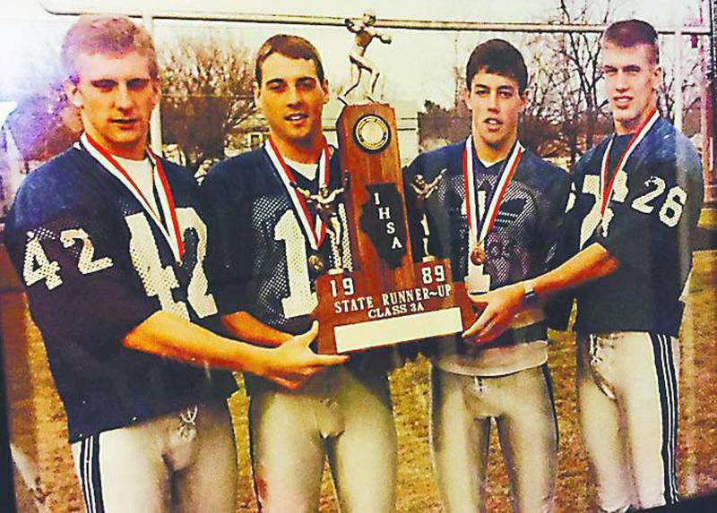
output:
[[[116,13],[148,11],[192,12],[196,0],[41,0],[52,9],[68,11],[99,10]],[[582,0],[574,0],[581,2]],[[656,26],[672,27],[680,21],[695,21],[699,0],[634,0],[615,2],[616,19],[637,16]],[[600,12],[604,0],[591,0]],[[542,21],[554,12],[557,0],[203,0],[205,12],[317,14],[358,17],[373,9],[379,19],[423,19],[445,21]],[[0,100],[13,99],[31,90],[39,69],[56,65],[57,51],[72,17],[46,13],[39,0],[0,0]],[[351,36],[343,27],[280,26],[247,23],[157,21],[158,47],[170,45],[180,34],[198,38],[232,38],[255,50],[261,42],[279,31],[295,33],[311,40],[324,58],[330,84],[348,81],[348,53]],[[374,41],[367,55],[384,73],[380,87],[385,98],[415,102],[425,99],[450,105],[454,98],[453,68],[462,68],[472,47],[496,34],[482,32],[438,32],[385,30],[393,43]],[[507,35],[520,47],[521,35]]]

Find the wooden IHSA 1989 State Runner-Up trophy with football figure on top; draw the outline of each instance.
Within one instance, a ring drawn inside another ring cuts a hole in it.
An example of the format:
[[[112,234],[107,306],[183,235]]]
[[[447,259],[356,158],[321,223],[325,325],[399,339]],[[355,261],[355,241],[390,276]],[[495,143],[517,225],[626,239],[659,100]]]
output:
[[[450,261],[413,261],[395,114],[374,99],[380,73],[365,56],[374,38],[391,42],[374,30],[375,22],[373,13],[346,21],[356,36],[349,57],[355,79],[341,95],[345,106],[337,121],[343,187],[324,192],[324,197],[335,201],[339,192],[343,195],[353,265],[316,279],[320,353],[351,353],[454,334],[475,317],[465,286],[453,281]],[[369,86],[358,103],[351,103],[349,94],[358,88],[363,71],[370,74]],[[442,179],[439,175],[430,183],[417,179],[410,184],[419,208]],[[319,201],[315,199],[321,212]],[[336,209],[325,203],[324,222],[331,227],[328,218]]]

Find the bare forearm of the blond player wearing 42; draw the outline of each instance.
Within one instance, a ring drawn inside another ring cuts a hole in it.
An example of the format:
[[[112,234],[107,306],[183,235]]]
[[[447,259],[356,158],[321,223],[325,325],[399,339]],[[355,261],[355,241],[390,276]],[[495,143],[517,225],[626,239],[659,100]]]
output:
[[[268,349],[220,337],[168,312],[155,312],[123,340],[125,347],[199,367],[263,375]]]

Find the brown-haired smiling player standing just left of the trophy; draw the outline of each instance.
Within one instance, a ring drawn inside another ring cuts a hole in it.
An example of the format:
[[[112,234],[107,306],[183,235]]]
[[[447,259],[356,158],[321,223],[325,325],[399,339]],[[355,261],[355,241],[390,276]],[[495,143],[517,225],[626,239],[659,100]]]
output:
[[[242,338],[279,345],[310,326],[317,275],[352,263],[342,201],[327,222],[305,194],[330,198],[344,186],[322,130],[329,90],[318,52],[304,38],[273,36],[259,48],[255,75],[269,139],[212,169],[203,192],[221,232],[220,299],[246,311],[229,322]],[[396,434],[385,366],[381,351],[357,355],[290,393],[246,380],[263,511],[316,511],[326,457],[342,511],[393,510]]]

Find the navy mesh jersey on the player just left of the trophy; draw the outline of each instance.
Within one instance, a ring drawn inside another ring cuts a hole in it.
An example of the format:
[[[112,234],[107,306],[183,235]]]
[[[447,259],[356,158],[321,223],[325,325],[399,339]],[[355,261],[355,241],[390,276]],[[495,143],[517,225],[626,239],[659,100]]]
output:
[[[329,188],[341,188],[338,152],[329,167]],[[302,188],[318,189],[300,174],[294,175]],[[217,260],[210,266],[220,311],[243,310],[286,333],[307,331],[318,304],[315,277],[307,262],[313,250],[266,150],[220,162],[204,179],[202,190],[204,201],[211,205],[212,233],[220,235],[213,252]],[[351,270],[343,201],[337,205],[337,217],[338,235],[327,230],[318,252],[326,269]],[[368,351],[352,356],[349,365],[355,370],[385,368],[389,364],[385,355],[382,349]]]

